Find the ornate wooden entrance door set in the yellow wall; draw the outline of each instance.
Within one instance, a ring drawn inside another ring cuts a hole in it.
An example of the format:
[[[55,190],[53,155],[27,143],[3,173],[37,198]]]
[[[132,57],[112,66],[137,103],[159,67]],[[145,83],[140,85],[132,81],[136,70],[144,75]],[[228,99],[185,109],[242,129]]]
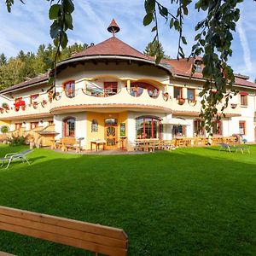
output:
[[[114,149],[118,146],[117,119],[105,119],[105,140],[106,149]]]

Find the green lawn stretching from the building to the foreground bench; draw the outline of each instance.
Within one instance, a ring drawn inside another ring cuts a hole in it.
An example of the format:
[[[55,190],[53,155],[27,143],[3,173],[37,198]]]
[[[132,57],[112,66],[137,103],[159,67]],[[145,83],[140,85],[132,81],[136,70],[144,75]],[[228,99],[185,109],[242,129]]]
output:
[[[0,205],[121,228],[129,255],[256,255],[256,146],[250,148],[116,156],[36,149],[28,155],[32,166],[0,169]],[[21,149],[2,146],[0,155]],[[0,250],[87,255],[5,231]]]

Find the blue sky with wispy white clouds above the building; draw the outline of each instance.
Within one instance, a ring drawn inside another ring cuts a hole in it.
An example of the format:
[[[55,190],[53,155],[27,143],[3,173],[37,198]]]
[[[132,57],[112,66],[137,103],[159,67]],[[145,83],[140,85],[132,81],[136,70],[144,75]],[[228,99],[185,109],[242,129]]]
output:
[[[49,1],[23,0],[26,4],[15,0],[9,14],[5,1],[0,2],[0,54],[15,56],[20,49],[36,52],[39,44],[52,43],[49,37],[50,20],[48,18]],[[120,27],[117,38],[143,52],[146,45],[154,38],[152,26],[143,26],[145,10],[143,0],[74,0],[73,31],[68,32],[69,44],[98,44],[112,35],[107,28],[114,18]],[[170,6],[170,0],[162,0]],[[195,3],[195,0],[193,1]],[[189,17],[184,20],[183,32],[188,45],[184,47],[189,55],[194,43],[195,24],[204,18],[191,3]],[[232,43],[233,55],[230,65],[235,73],[256,78],[256,3],[244,0],[240,3],[241,18],[236,26]],[[177,56],[177,32],[169,29],[168,23],[160,19],[160,42],[166,55]]]

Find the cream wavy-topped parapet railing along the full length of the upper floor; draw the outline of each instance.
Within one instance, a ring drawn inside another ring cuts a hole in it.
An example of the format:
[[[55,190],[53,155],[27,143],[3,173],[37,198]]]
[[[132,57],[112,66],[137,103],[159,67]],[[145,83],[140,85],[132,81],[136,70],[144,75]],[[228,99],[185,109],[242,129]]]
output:
[[[131,89],[132,90],[132,89]],[[13,108],[0,108],[0,119],[18,119],[24,115],[50,115],[50,110],[56,108],[102,108],[108,105],[108,108],[154,108],[165,109],[167,112],[186,113],[196,115],[201,112],[201,99],[195,101],[185,98],[172,98],[168,93],[162,93],[160,90],[157,94],[148,94],[148,90],[143,89],[139,95],[132,95],[131,90],[125,87],[120,88],[116,92],[101,94],[92,94],[91,91],[78,89],[74,91],[73,97],[66,95],[66,92],[57,93],[52,101],[42,100],[41,102],[33,102],[24,106]],[[83,107],[84,105],[84,107]],[[235,106],[236,105],[236,106]],[[222,104],[218,106],[218,112],[221,111]],[[239,115],[241,113],[240,104],[229,103],[224,113]],[[21,119],[21,118],[20,118]]]

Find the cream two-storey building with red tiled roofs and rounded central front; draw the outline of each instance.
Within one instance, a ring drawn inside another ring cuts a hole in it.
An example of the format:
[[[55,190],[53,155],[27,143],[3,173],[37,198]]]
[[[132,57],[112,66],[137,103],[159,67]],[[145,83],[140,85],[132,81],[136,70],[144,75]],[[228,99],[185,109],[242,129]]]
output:
[[[95,140],[106,141],[106,149],[120,148],[125,140],[132,149],[139,138],[204,137],[198,117],[203,83],[200,59],[155,65],[113,33],[58,64],[55,98],[48,74],[2,90],[0,125],[21,133],[51,127],[56,139],[84,138],[84,149]],[[234,86],[240,93],[213,125],[213,135],[242,134],[255,142],[256,84],[236,75]]]

